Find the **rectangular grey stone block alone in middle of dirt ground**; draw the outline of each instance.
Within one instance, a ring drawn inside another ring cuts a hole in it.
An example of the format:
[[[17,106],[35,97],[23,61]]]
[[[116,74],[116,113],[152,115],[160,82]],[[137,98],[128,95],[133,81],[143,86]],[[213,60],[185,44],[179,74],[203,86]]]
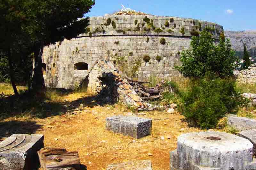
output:
[[[107,117],[106,129],[139,139],[151,134],[152,119],[132,116]]]

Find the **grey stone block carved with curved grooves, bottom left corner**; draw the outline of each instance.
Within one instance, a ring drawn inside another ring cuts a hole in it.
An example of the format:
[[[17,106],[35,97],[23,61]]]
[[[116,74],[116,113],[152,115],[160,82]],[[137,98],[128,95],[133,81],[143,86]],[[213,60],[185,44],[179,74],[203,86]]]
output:
[[[44,135],[12,134],[0,143],[0,169],[34,169],[39,164],[37,151],[43,147]]]

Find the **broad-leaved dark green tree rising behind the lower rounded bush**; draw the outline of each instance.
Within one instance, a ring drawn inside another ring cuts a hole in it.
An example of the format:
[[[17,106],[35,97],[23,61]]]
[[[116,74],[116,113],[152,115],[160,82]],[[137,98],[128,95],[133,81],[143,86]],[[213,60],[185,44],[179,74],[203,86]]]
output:
[[[222,35],[216,44],[210,32],[202,31],[200,36],[192,37],[190,46],[190,49],[181,53],[181,66],[175,66],[185,77],[200,78],[207,72],[220,77],[233,75],[238,62],[229,39]]]

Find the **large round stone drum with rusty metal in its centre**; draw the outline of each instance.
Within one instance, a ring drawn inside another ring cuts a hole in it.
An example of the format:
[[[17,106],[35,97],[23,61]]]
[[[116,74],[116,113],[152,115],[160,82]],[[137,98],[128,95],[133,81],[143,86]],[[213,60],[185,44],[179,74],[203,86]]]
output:
[[[218,131],[184,133],[170,152],[170,170],[255,170],[252,143]]]

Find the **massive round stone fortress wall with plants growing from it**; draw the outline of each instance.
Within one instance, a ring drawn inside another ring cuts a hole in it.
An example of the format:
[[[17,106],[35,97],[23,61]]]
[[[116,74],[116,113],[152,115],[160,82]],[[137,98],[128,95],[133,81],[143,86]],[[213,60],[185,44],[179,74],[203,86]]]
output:
[[[220,25],[191,18],[144,13],[91,17],[84,34],[44,47],[45,85],[75,89],[85,79],[91,81],[88,74],[99,60],[112,63],[120,75],[140,81],[179,76],[173,66],[179,64],[180,52],[203,29],[216,39],[223,32]]]

